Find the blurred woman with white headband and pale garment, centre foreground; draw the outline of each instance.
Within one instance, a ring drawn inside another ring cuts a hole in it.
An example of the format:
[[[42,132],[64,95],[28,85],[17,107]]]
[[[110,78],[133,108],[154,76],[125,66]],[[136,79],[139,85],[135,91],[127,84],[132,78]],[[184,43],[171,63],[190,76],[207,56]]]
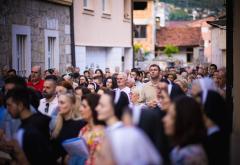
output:
[[[120,90],[101,96],[97,105],[98,119],[107,124],[106,136],[96,154],[98,164],[161,164],[162,159],[149,138],[133,126],[124,126],[121,118],[129,104]]]

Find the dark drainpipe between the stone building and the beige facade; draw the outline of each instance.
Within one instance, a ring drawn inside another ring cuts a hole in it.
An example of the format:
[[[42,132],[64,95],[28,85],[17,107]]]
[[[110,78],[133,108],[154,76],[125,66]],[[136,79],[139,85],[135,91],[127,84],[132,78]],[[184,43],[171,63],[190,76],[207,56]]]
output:
[[[74,3],[74,1],[73,1]],[[75,58],[75,40],[74,40],[74,8],[73,3],[70,6],[70,31],[71,31],[71,60],[72,66],[76,67],[76,58]]]

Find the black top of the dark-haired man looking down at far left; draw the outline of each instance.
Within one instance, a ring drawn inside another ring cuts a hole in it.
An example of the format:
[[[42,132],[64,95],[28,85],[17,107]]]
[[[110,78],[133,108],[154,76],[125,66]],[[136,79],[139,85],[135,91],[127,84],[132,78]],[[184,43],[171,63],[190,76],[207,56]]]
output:
[[[49,121],[47,116],[33,114],[22,120],[23,151],[32,165],[55,164],[49,141]]]

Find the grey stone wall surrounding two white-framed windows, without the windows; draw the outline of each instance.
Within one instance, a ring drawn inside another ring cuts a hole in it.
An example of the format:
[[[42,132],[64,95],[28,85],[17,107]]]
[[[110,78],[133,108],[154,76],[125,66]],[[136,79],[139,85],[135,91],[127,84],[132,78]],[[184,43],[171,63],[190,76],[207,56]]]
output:
[[[12,25],[31,28],[31,65],[45,69],[44,30],[59,34],[59,68],[71,63],[70,8],[40,0],[3,0],[0,2],[0,67],[12,66]]]

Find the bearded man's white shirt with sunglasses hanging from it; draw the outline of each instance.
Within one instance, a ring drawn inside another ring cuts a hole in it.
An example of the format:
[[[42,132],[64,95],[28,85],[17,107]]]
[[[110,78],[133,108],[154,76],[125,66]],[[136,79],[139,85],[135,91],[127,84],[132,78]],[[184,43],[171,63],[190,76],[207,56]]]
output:
[[[58,98],[57,96],[49,102],[49,107],[48,107],[48,112],[46,112],[46,104],[47,100],[45,98],[40,100],[40,104],[38,107],[38,111],[41,112],[44,115],[52,117],[53,115],[57,114],[57,109],[58,109]]]

